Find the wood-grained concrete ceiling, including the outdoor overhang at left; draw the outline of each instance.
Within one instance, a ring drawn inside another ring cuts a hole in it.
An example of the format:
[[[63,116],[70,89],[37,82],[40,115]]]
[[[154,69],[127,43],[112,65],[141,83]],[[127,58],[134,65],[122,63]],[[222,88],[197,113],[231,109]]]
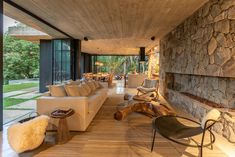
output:
[[[159,39],[208,0],[14,0],[27,11],[82,41],[94,54],[138,54],[139,47]],[[66,36],[4,3],[4,14],[53,38]],[[155,40],[150,38],[154,36]]]

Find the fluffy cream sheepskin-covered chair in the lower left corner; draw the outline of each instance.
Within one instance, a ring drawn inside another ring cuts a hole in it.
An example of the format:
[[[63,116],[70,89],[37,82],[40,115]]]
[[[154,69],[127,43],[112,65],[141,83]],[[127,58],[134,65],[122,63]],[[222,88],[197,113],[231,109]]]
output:
[[[48,116],[41,115],[11,125],[7,130],[11,148],[17,153],[22,153],[40,146],[45,138],[48,121]]]

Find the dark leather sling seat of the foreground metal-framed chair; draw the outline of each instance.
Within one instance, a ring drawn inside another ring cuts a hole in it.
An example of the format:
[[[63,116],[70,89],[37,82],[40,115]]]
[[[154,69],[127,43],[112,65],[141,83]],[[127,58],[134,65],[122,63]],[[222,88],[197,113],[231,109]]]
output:
[[[203,132],[201,126],[187,126],[178,121],[176,117],[170,116],[156,118],[153,121],[153,128],[162,136],[175,139],[192,137]]]

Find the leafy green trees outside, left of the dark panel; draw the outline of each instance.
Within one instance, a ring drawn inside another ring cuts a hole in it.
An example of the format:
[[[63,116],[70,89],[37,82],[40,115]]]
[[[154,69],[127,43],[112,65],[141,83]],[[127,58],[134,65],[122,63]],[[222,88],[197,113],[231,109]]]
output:
[[[4,84],[9,80],[39,77],[39,44],[4,34]]]

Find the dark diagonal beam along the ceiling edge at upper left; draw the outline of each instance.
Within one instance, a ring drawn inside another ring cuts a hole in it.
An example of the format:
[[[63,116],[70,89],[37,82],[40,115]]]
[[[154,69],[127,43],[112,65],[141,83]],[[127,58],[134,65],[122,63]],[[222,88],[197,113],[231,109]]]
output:
[[[22,11],[22,12],[24,12],[24,13],[30,15],[31,17],[37,19],[38,21],[44,23],[45,25],[51,27],[52,29],[54,29],[54,30],[56,30],[56,31],[58,31],[58,32],[60,32],[60,33],[62,33],[62,34],[64,34],[65,36],[67,36],[67,37],[73,39],[73,37],[70,36],[69,34],[67,34],[67,33],[65,33],[64,31],[60,30],[59,28],[53,26],[53,25],[50,24],[49,22],[47,22],[47,21],[45,21],[44,19],[42,19],[41,17],[39,17],[39,16],[33,14],[32,12],[26,10],[25,8],[19,6],[18,4],[14,3],[13,1],[11,1],[11,0],[3,0],[3,1],[4,1],[5,3],[7,3],[7,4],[9,4],[9,5],[11,5],[11,6],[13,6],[13,7],[17,8],[17,9],[19,9],[20,11]]]

